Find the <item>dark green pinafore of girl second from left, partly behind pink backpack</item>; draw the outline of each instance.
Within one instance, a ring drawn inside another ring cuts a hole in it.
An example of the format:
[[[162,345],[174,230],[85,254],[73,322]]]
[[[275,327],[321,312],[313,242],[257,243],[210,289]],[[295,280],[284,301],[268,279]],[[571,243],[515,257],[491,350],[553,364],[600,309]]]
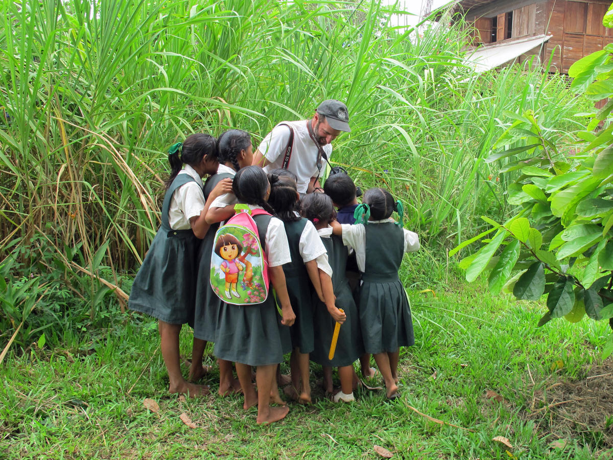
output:
[[[204,184],[204,197],[208,199],[215,186],[226,178],[232,178],[232,174],[213,174]],[[202,239],[200,251],[197,257],[198,277],[196,282],[196,306],[194,307],[194,337],[207,342],[215,342],[215,332],[217,330],[217,316],[219,308],[223,303],[221,299],[211,289],[209,277],[211,275],[211,253],[213,252],[213,241],[215,232],[219,228],[220,222],[211,224],[207,234]]]

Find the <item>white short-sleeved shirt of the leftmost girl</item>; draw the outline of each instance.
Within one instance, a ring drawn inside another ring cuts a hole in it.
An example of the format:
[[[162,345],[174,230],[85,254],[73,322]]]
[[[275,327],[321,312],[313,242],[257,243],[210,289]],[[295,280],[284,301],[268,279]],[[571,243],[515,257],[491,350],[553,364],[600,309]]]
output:
[[[202,191],[202,178],[189,164],[186,164],[179,174],[189,174],[196,182],[185,183],[172,194],[168,223],[173,230],[189,230],[191,229],[189,219],[199,216],[206,204]]]

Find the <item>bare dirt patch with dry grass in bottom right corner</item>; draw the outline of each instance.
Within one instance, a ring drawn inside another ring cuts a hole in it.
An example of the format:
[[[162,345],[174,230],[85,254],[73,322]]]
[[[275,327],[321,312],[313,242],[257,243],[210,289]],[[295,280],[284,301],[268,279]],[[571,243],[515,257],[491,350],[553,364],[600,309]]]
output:
[[[598,450],[613,447],[613,359],[591,367],[579,380],[534,388],[526,418],[541,431],[552,439],[580,437]]]

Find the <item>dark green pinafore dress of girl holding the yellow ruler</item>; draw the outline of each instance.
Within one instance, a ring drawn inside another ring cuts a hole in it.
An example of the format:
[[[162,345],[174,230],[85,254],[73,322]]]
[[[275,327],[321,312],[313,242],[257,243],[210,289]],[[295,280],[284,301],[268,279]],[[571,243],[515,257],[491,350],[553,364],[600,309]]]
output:
[[[314,305],[314,328],[315,348],[311,353],[311,361],[322,366],[343,367],[350,366],[364,353],[362,345],[362,331],[360,331],[360,318],[354,301],[349,280],[345,276],[348,249],[343,245],[341,237],[332,235],[330,238],[322,238],[322,242],[328,251],[328,261],[332,267],[332,285],[334,295],[337,296],[337,308],[343,309],[347,319],[341,324],[338,332],[337,348],[332,361],[328,359],[330,343],[336,321],[332,319],[317,295],[313,296]]]

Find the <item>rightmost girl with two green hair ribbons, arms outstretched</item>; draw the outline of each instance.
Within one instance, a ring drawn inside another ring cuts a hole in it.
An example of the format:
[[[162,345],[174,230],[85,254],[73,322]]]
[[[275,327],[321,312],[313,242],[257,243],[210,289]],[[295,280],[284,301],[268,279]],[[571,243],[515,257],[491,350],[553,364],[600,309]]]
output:
[[[398,222],[390,218],[392,212],[400,216]],[[356,251],[362,272],[358,308],[364,348],[375,356],[387,397],[395,399],[400,347],[415,343],[411,308],[398,269],[405,252],[419,249],[419,238],[402,228],[402,204],[382,188],[368,190],[356,213],[356,224],[335,223],[334,233],[342,234],[343,243]]]

